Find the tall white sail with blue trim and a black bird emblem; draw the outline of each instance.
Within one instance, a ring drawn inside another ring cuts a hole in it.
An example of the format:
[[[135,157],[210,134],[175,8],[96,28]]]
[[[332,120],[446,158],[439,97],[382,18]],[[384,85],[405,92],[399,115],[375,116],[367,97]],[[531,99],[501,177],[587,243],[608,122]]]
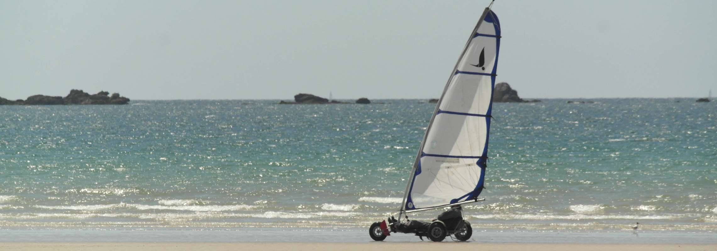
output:
[[[500,23],[486,8],[438,101],[402,210],[474,200],[483,190],[499,47]]]

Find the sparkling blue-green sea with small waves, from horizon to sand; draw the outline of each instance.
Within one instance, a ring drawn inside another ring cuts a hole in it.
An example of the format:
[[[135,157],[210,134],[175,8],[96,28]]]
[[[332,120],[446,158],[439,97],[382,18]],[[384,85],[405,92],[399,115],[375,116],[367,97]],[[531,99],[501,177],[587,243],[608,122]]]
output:
[[[0,241],[369,242],[435,109],[373,102],[0,106]],[[474,242],[717,242],[717,102],[543,99],[493,117],[485,201],[464,207]]]

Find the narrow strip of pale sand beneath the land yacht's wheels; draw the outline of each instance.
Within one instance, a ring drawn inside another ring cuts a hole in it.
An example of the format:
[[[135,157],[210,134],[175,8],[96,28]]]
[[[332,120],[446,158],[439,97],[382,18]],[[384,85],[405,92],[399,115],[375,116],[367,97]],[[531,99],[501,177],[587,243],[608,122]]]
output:
[[[662,251],[662,250],[717,250],[717,245],[615,245],[615,244],[533,244],[533,243],[479,243],[479,242],[419,242],[419,243],[203,243],[203,242],[5,242],[0,250],[534,250],[534,251]]]

